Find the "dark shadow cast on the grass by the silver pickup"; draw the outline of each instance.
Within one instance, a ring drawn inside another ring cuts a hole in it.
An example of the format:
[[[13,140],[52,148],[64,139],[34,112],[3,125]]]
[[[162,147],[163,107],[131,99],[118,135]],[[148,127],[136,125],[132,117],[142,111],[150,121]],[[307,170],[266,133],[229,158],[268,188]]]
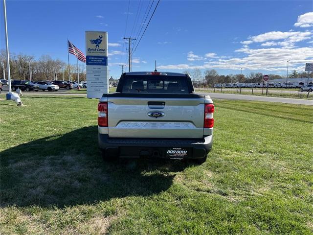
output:
[[[182,161],[103,162],[97,126],[84,127],[1,153],[0,206],[65,206],[167,190]]]

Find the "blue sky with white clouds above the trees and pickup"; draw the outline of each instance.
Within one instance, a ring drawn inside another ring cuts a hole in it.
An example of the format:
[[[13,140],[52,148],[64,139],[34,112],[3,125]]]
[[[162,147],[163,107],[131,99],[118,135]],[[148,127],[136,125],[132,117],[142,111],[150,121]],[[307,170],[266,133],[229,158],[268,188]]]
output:
[[[119,77],[118,65],[127,64],[128,58],[123,37],[136,36],[150,2],[7,0],[10,51],[36,58],[49,54],[67,62],[67,38],[85,51],[86,30],[108,31],[110,75]],[[2,49],[2,2],[0,12]],[[312,46],[310,0],[161,0],[134,52],[133,71],[152,71],[157,60],[162,71],[199,68],[227,74],[240,73],[243,68],[244,73],[284,75],[287,60],[298,71],[304,70],[306,62],[313,62]],[[73,55],[70,62],[76,62]]]

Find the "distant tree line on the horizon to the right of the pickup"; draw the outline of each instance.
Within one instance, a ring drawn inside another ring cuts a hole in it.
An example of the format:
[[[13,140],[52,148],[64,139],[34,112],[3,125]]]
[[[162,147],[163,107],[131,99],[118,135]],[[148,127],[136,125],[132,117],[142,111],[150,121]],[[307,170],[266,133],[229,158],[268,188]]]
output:
[[[192,71],[183,71],[183,73],[188,73],[195,84],[203,87],[214,87],[216,83],[255,83],[263,81],[262,72],[250,72],[248,74],[229,74],[220,75],[216,70],[206,70],[203,73],[199,69],[194,69]],[[282,79],[286,78],[278,74],[268,74],[269,79]],[[289,78],[300,78],[300,77],[313,77],[313,73],[308,74],[308,72],[298,73],[296,70],[292,71],[288,77]]]

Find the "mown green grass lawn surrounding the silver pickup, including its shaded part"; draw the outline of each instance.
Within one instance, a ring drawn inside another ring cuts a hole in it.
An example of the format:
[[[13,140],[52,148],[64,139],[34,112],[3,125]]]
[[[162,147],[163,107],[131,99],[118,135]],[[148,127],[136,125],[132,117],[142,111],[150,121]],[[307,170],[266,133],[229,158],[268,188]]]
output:
[[[104,163],[97,100],[0,96],[0,234],[312,234],[313,107],[214,101],[204,164]]]

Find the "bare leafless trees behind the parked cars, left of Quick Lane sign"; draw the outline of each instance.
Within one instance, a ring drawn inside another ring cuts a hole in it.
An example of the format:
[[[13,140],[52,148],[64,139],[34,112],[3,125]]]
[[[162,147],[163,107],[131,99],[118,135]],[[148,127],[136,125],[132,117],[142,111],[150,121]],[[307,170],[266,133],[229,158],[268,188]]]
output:
[[[6,53],[4,50],[1,50],[0,78],[3,78],[3,65],[7,79]],[[78,70],[80,79],[84,79],[85,69],[85,64],[79,64]],[[77,66],[70,65],[69,71],[72,80],[77,80]],[[53,72],[55,72],[54,76]],[[53,80],[53,77],[62,80],[64,74],[64,80],[70,80],[68,76],[68,64],[60,59],[52,59],[49,55],[42,55],[39,59],[35,59],[35,57],[31,55],[10,53],[10,74],[11,79],[16,80],[30,80],[31,74],[33,81]]]

